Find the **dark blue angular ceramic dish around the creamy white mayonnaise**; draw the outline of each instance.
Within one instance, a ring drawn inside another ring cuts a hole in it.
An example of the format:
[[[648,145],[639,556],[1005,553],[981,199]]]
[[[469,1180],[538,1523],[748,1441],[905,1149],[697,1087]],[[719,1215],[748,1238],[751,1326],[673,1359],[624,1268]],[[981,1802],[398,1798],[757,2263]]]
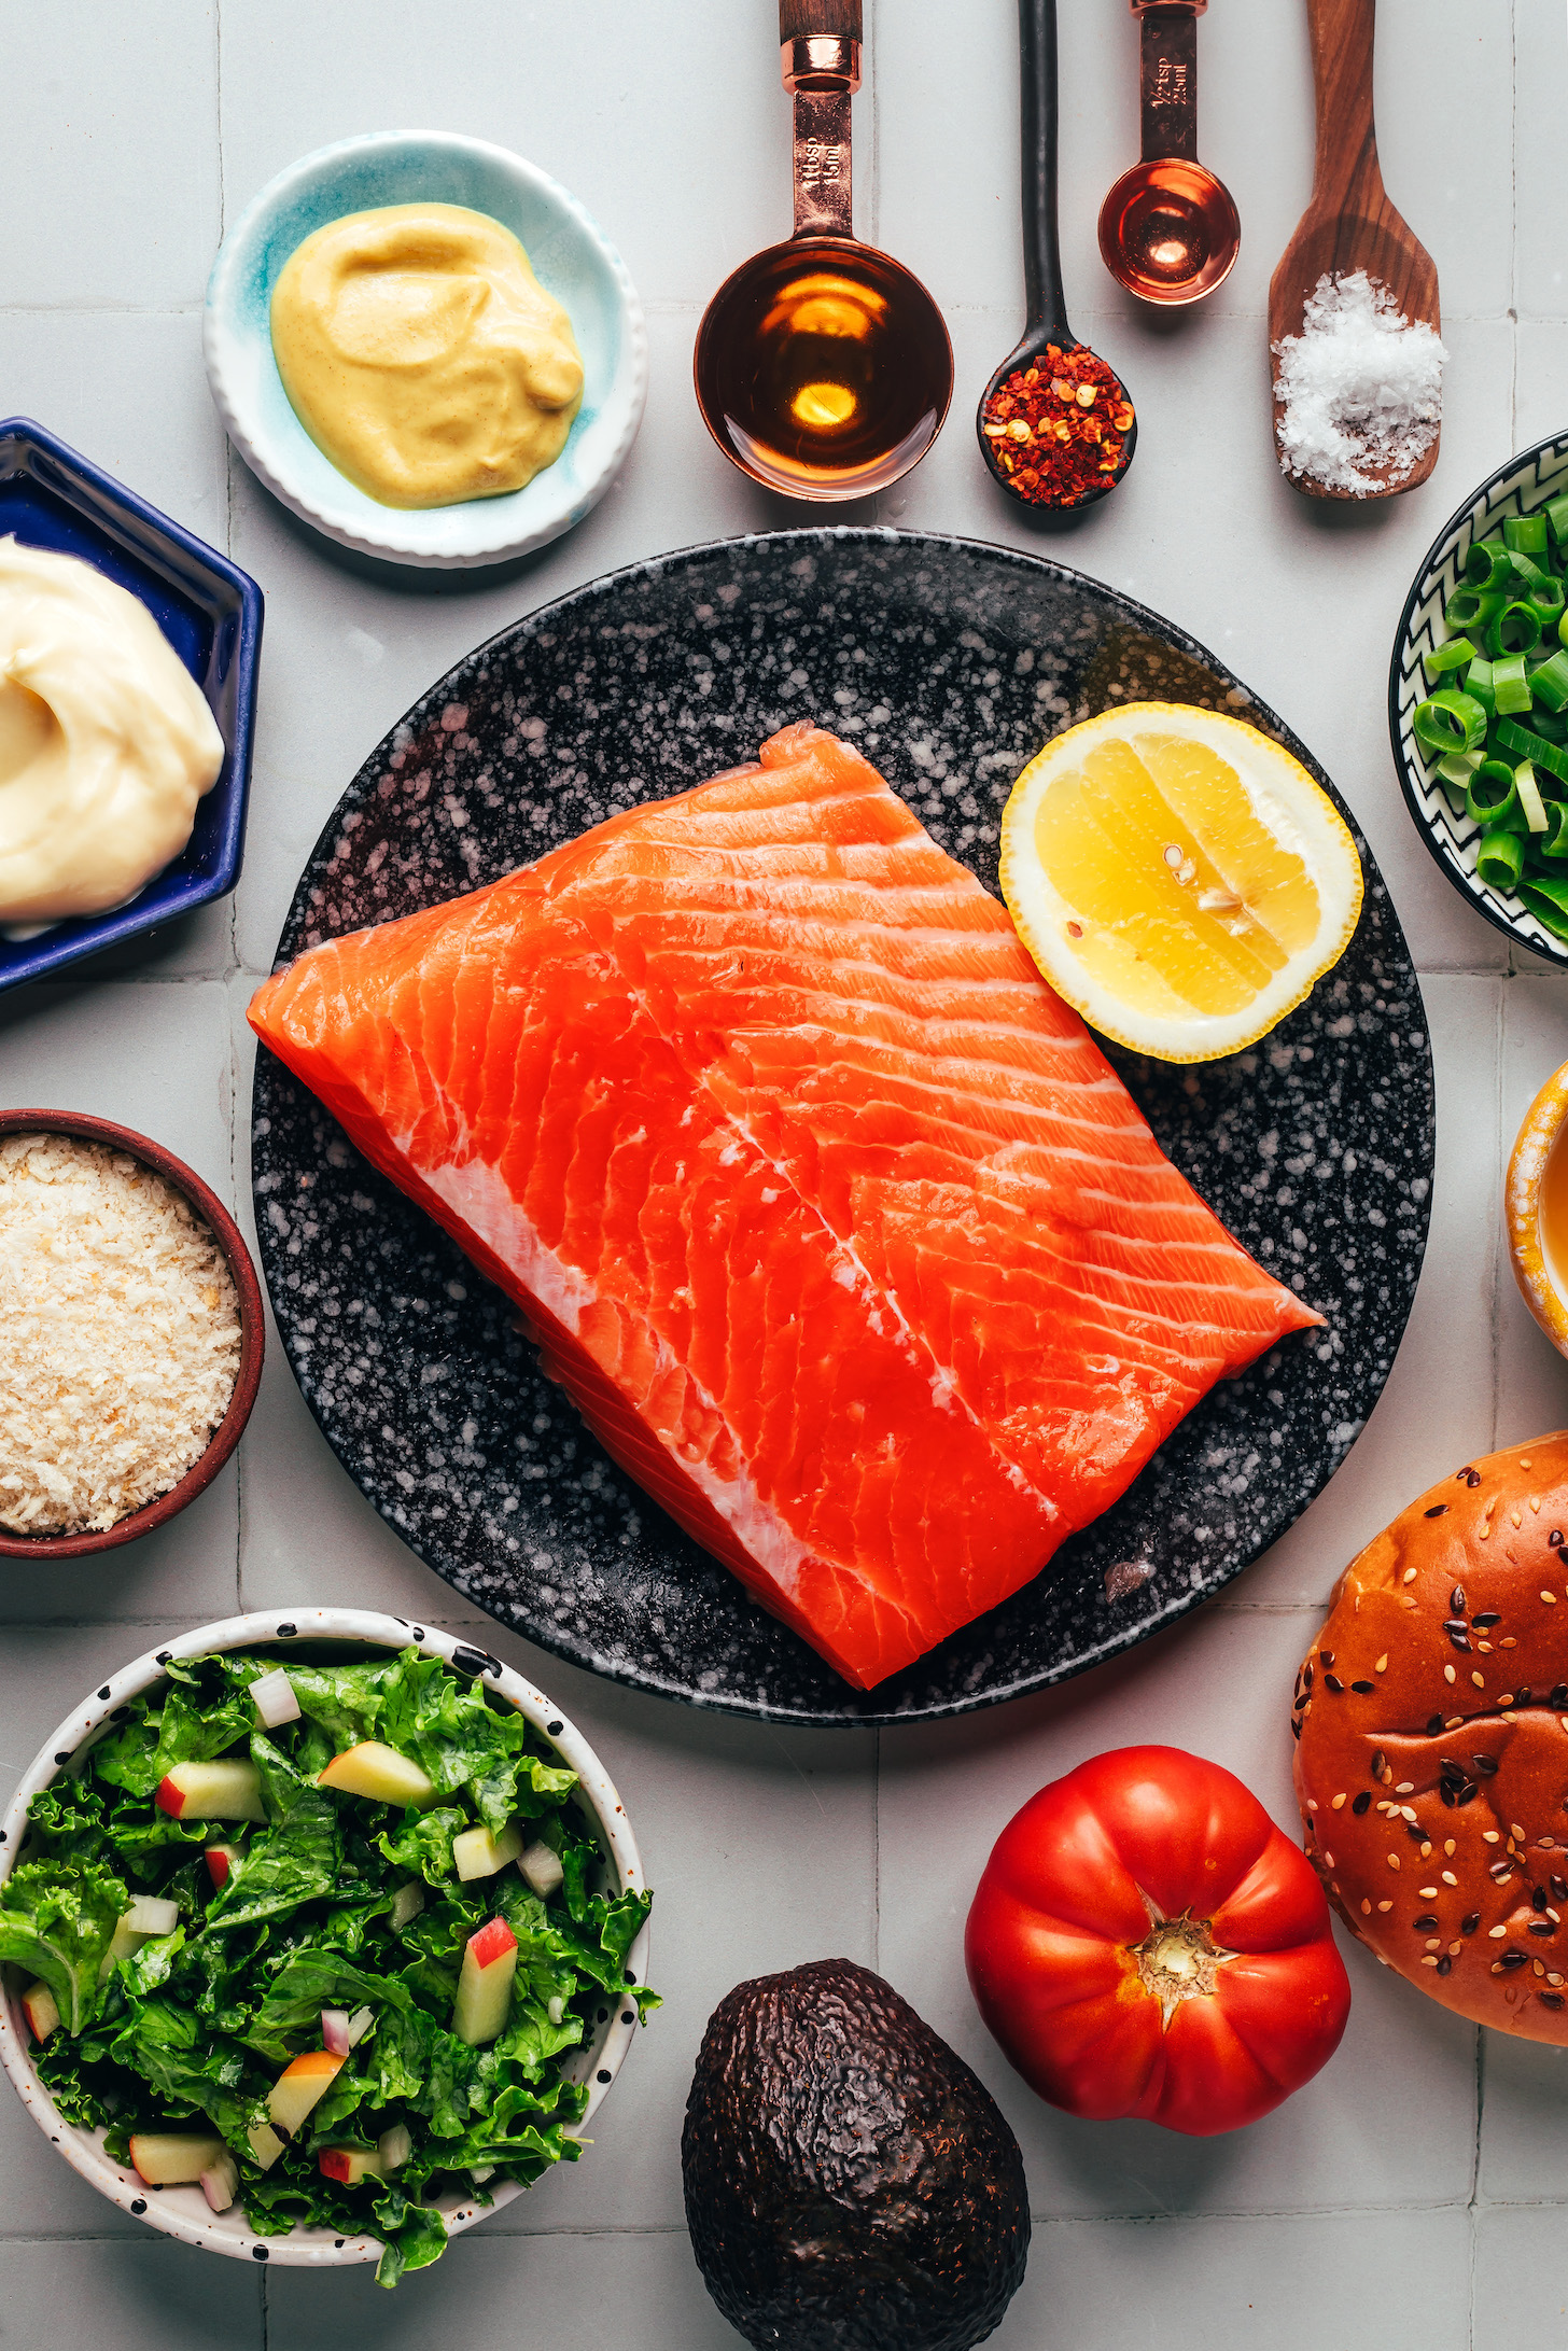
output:
[[[261,588],[226,555],[160,515],[28,416],[0,421],[0,538],[78,555],[148,607],[223,736],[219,781],[202,795],[181,853],[129,905],[0,938],[0,990],[153,931],[226,898],[240,879],[256,731]]]

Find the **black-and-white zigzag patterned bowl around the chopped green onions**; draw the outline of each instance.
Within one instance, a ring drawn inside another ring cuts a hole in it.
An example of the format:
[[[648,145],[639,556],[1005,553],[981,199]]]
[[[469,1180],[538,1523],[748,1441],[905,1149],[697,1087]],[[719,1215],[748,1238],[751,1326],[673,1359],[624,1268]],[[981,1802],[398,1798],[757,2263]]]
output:
[[[1554,938],[1542,922],[1530,915],[1509,891],[1488,889],[1476,872],[1476,849],[1481,825],[1465,809],[1455,809],[1436,773],[1427,773],[1420,743],[1415,741],[1415,705],[1427,696],[1422,654],[1453,635],[1443,623],[1443,604],[1460,585],[1465,557],[1476,538],[1502,529],[1507,515],[1533,515],[1568,489],[1568,433],[1552,433],[1497,465],[1443,524],[1432,541],[1427,560],[1415,574],[1415,585],[1406,597],[1394,632],[1389,661],[1389,743],[1394,766],[1406,795],[1415,828],[1441,865],[1443,875],[1505,938],[1544,955],[1552,964],[1568,966],[1568,940]],[[1446,682],[1446,679],[1443,679]]]

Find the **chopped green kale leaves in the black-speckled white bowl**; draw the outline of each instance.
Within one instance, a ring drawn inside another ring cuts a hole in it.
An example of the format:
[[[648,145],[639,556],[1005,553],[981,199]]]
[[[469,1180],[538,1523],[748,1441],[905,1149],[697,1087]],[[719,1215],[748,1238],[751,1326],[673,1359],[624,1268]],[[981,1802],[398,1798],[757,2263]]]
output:
[[[597,1834],[571,1803],[576,1773],[442,1657],[247,1648],[162,1667],[31,1799],[26,1848],[0,1886],[0,1958],[47,1987],[59,2012],[33,2067],[61,2116],[103,2128],[118,2161],[141,2132],[209,2132],[259,2236],[296,2224],[376,2236],[393,2285],[444,2250],[435,2193],[489,2203],[489,2179],[529,2184],[576,2161],[569,2125],[588,2090],[567,2057],[592,2041],[604,2005],[658,2005],[625,1977],[651,1895],[602,1890]],[[252,1688],[273,1676],[275,1693],[280,1667],[299,1716],[268,1728]],[[430,1794],[402,1806],[322,1784],[362,1742],[416,1766]],[[266,1817],[155,1801],[169,1773],[214,1759],[254,1766]],[[531,1878],[505,1864],[463,1881],[454,1838],[468,1836],[468,1853],[475,1829],[498,1850],[522,1841]],[[174,1904],[176,1923],[132,1940],[122,1921],[146,1897]],[[473,2045],[454,2031],[454,2003],[465,1947],[489,1921],[505,1923],[517,1961],[505,2020]],[[322,2050],[327,2015],[353,2017],[353,2045],[263,2163],[270,2092],[292,2059]],[[322,2170],[322,2154],[343,2149],[367,2168],[357,2184]]]

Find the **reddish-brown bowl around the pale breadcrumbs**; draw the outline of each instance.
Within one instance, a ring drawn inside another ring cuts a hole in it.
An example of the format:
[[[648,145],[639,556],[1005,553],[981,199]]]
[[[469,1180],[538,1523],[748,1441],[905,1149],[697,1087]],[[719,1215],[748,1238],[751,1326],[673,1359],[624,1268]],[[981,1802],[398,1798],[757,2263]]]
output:
[[[113,1150],[125,1152],[127,1159],[141,1159],[141,1164],[153,1168],[155,1176],[162,1176],[167,1185],[183,1192],[223,1251],[223,1262],[228,1265],[235,1284],[235,1298],[240,1302],[240,1371],[235,1373],[235,1392],[228,1399],[228,1411],[212,1432],[202,1458],[186,1469],[179,1486],[169,1486],[167,1493],[155,1495],[141,1509],[132,1509],[125,1519],[115,1519],[113,1526],[96,1533],[12,1535],[7,1528],[0,1528],[0,1559],[42,1561],[82,1559],[87,1552],[113,1552],[120,1542],[134,1542],[139,1535],[150,1535],[155,1526],[167,1526],[167,1521],[174,1519],[186,1502],[195,1502],[205,1486],[212,1486],[214,1476],[240,1444],[244,1422],[252,1418],[256,1389],[261,1387],[266,1319],[261,1312],[261,1284],[256,1281],[256,1267],[252,1265],[252,1253],[244,1246],[244,1234],[216,1192],[212,1192],[183,1159],[176,1159],[174,1152],[162,1147],[162,1143],[150,1143],[148,1136],[139,1136],[129,1126],[115,1126],[110,1119],[89,1119],[78,1110],[0,1110],[0,1138],[38,1133],[75,1136],[80,1143],[108,1143]]]

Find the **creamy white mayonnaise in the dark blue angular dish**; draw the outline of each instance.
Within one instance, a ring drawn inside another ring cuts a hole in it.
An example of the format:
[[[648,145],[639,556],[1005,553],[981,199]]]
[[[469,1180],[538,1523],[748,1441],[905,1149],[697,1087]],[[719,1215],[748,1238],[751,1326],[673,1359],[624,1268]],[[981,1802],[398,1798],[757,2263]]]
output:
[[[0,538],[0,922],[134,898],[221,766],[216,719],[146,604],[75,555]]]

